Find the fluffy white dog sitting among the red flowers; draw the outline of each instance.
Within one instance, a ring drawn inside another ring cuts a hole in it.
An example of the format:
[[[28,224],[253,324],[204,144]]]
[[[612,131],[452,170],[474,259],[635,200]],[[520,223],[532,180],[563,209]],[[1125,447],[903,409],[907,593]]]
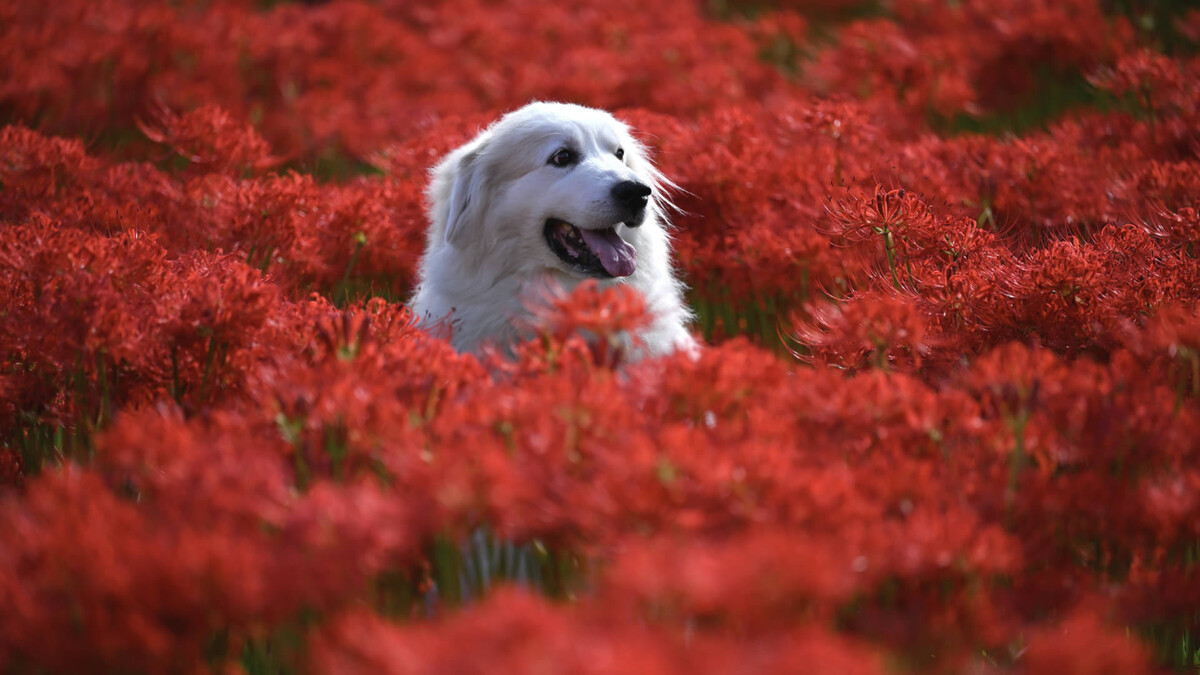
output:
[[[521,335],[548,287],[628,283],[650,323],[635,357],[695,353],[691,312],[671,269],[666,179],[629,127],[604,110],[530,103],[433,168],[430,229],[412,307],[445,321],[458,351]]]

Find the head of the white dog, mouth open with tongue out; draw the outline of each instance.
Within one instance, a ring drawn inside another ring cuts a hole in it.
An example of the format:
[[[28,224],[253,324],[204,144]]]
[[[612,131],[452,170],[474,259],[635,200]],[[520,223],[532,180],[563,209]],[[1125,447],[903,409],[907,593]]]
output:
[[[638,265],[638,228],[660,227],[665,185],[608,113],[530,103],[433,169],[430,244],[509,265],[497,274],[626,277]]]

